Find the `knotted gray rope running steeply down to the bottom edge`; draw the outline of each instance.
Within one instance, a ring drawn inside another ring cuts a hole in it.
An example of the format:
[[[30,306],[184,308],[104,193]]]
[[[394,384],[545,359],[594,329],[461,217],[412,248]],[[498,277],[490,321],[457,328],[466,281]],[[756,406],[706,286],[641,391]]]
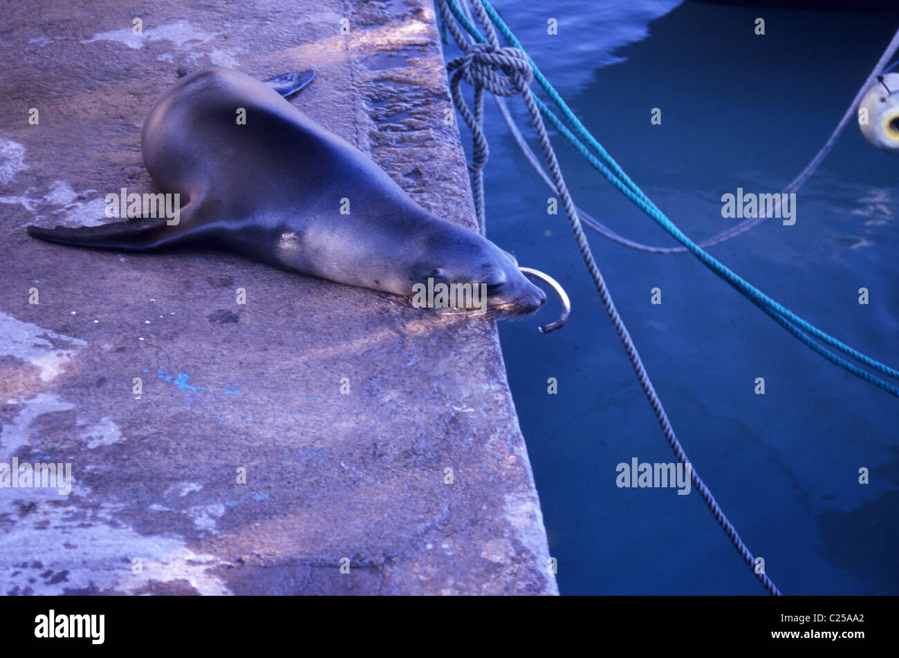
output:
[[[530,112],[534,129],[537,131],[540,147],[543,150],[543,155],[546,157],[549,172],[552,174],[556,190],[558,191],[559,197],[562,199],[562,205],[565,207],[565,214],[568,216],[568,221],[571,225],[572,232],[574,233],[574,239],[577,241],[581,256],[583,257],[583,262],[586,264],[593,283],[600,293],[602,306],[605,307],[612,325],[614,325],[615,331],[619,334],[619,338],[624,345],[625,351],[628,353],[628,359],[636,372],[636,376],[640,381],[640,386],[643,388],[645,396],[649,400],[649,404],[653,407],[655,417],[662,427],[665,440],[668,441],[668,445],[671,447],[681,464],[686,465],[690,463],[686,452],[684,452],[684,449],[681,446],[681,442],[674,434],[674,429],[672,428],[671,422],[668,420],[668,414],[665,413],[662,401],[655,393],[653,383],[646,373],[643,360],[640,359],[640,355],[636,350],[636,345],[631,339],[630,333],[628,333],[628,328],[625,326],[621,316],[619,316],[618,309],[612,301],[606,282],[602,278],[601,271],[593,259],[590,245],[587,242],[587,237],[583,233],[583,227],[581,227],[581,221],[578,218],[578,212],[574,206],[574,200],[572,200],[571,194],[568,192],[568,188],[565,185],[565,179],[562,176],[562,172],[559,169],[556,160],[556,153],[553,151],[553,147],[547,136],[547,129],[543,124],[543,119],[540,116],[537,104],[534,102],[533,95],[530,93],[530,82],[533,73],[530,70],[530,66],[522,67],[521,65],[521,62],[523,62],[524,65],[528,64],[527,56],[521,52],[521,50],[500,48],[496,33],[493,29],[493,24],[490,22],[490,19],[485,12],[484,5],[480,0],[472,0],[472,4],[478,20],[484,26],[485,35],[488,40],[487,44],[475,44],[467,41],[458,28],[454,17],[449,12],[446,0],[436,0],[436,2],[440,5],[443,20],[447,23],[449,31],[456,39],[459,49],[465,53],[462,57],[453,59],[447,65],[447,69],[450,72],[456,72],[452,78],[453,83],[451,84],[451,91],[453,102],[456,102],[459,114],[466,120],[469,128],[472,128],[475,115],[472,115],[472,113],[468,111],[465,101],[458,89],[458,81],[461,79],[465,79],[469,84],[472,84],[472,86],[475,87],[476,98],[478,88],[480,88],[482,92],[483,89],[486,88],[492,93],[495,93],[494,89],[500,90],[500,93],[497,93],[496,95],[501,96],[511,96],[513,93],[521,93],[524,104]],[[480,46],[480,48],[475,49],[476,46]],[[474,50],[473,54],[469,52],[472,50]],[[502,71],[502,76],[500,71]],[[481,102],[483,102],[483,96],[481,97]],[[467,117],[470,117],[472,121],[469,122]],[[483,144],[483,147],[480,147],[479,151],[483,158],[478,169],[478,171],[480,171],[486,163],[487,153],[486,138],[482,125],[476,124],[476,126],[472,128],[472,134],[476,144]],[[476,186],[479,184],[483,188],[483,178],[476,179],[475,184]],[[483,189],[479,194],[483,201]],[[478,195],[478,191],[475,192],[475,195]],[[478,217],[478,223],[482,227],[484,226],[483,214]],[[737,553],[743,558],[743,562],[748,565],[750,569],[752,569],[753,574],[755,574],[755,559],[752,556],[752,553],[743,543],[740,535],[737,533],[736,529],[734,529],[733,524],[727,520],[724,511],[721,510],[715,497],[712,495],[711,491],[709,491],[708,486],[702,481],[702,478],[699,477],[699,473],[697,473],[696,469],[693,467],[690,467],[690,482],[699,492],[702,500],[706,502],[708,510],[711,511],[712,516],[715,517],[715,520],[717,520],[721,529],[725,531],[725,534],[727,535],[727,538],[730,539],[734,549],[736,549]],[[780,594],[777,586],[774,582],[771,582],[767,574],[755,574],[755,576],[770,594]]]

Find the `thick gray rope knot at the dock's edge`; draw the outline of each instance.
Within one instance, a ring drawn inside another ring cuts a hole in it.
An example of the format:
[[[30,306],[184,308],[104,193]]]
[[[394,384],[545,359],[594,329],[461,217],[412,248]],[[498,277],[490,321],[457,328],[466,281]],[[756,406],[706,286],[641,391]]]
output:
[[[467,44],[465,54],[447,67],[450,72],[458,69],[471,86],[503,97],[524,93],[534,79],[534,70],[523,50],[498,48],[490,43]]]

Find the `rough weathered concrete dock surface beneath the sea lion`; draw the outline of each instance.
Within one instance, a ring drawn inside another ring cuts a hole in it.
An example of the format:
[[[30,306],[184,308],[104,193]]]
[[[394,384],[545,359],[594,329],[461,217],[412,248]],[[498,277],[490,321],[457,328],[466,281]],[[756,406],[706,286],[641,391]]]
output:
[[[227,253],[25,234],[109,221],[106,194],[152,191],[147,111],[176,67],[209,64],[316,68],[292,102],[473,227],[432,4],[4,12],[0,463],[70,463],[74,483],[0,488],[0,591],[556,593],[492,320]]]

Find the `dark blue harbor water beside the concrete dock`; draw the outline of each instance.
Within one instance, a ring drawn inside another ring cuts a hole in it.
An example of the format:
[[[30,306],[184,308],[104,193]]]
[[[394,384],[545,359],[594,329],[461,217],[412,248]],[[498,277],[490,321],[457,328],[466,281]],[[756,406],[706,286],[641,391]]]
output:
[[[496,6],[588,129],[697,241],[738,221],[721,217],[722,194],[777,192],[801,171],[899,27],[882,14],[661,0]],[[764,36],[753,34],[757,16]],[[557,36],[547,35],[549,17]],[[650,124],[654,107],[661,126]],[[487,108],[488,236],[554,275],[574,307],[549,336],[537,326],[554,319],[551,305],[501,327],[561,591],[764,593],[697,494],[616,486],[619,462],[670,462],[672,452],[564,212],[547,215],[547,188]],[[512,109],[524,126],[521,102]],[[576,203],[632,239],[675,245],[553,135]],[[850,125],[799,192],[795,226],[766,221],[712,253],[799,316],[899,366],[897,174],[899,156]],[[588,233],[690,461],[780,589],[899,593],[899,400],[814,354],[690,254],[639,253]],[[753,392],[757,377],[764,396]],[[860,467],[870,484],[859,484]]]

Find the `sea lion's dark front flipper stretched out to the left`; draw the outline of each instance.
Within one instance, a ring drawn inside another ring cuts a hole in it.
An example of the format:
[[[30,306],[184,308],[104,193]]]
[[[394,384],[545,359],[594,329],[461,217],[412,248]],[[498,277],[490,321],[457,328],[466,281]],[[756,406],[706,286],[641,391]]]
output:
[[[183,210],[182,210],[183,213]],[[190,222],[181,217],[175,226],[168,219],[132,218],[123,222],[111,222],[97,227],[28,227],[28,235],[63,245],[81,245],[101,249],[124,251],[151,251],[182,240]]]

